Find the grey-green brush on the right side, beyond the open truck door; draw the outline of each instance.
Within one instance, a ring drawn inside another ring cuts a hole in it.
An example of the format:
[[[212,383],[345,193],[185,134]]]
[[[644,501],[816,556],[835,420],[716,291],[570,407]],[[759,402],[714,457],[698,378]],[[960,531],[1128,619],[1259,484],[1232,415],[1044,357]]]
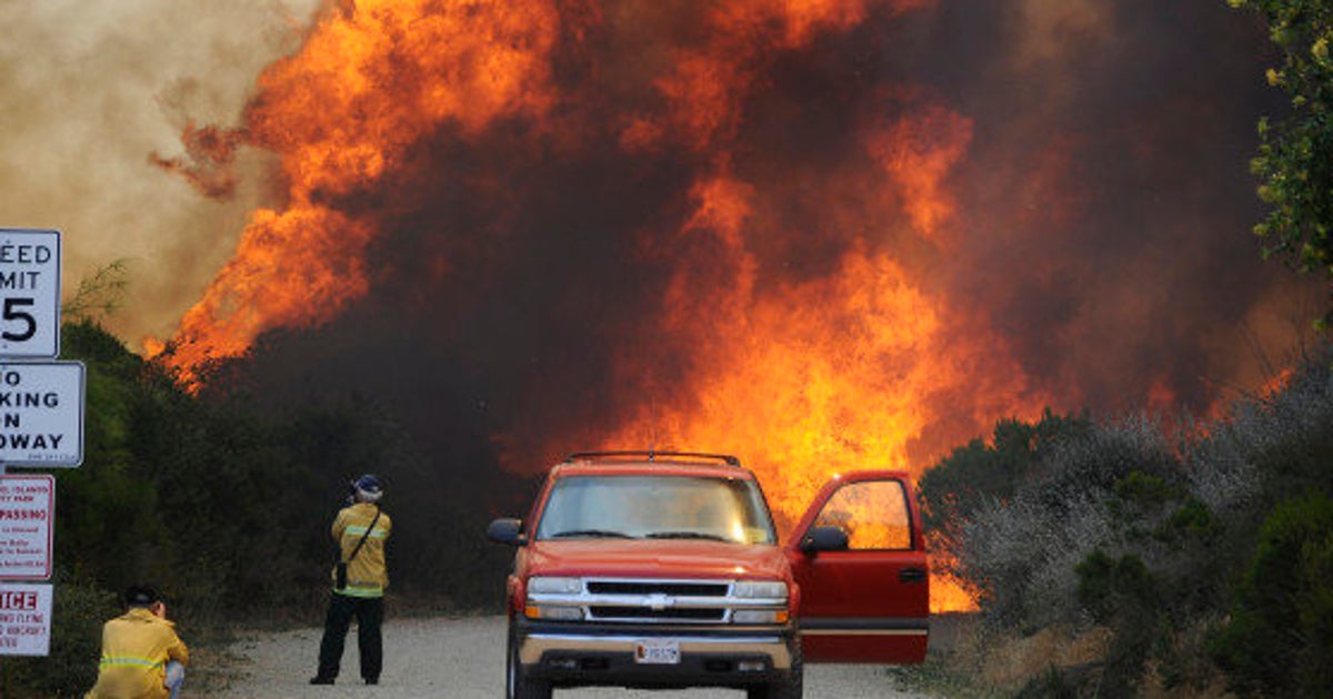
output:
[[[936,547],[981,604],[940,662],[969,692],[1325,695],[1330,359],[1218,419],[1006,421],[929,470]]]

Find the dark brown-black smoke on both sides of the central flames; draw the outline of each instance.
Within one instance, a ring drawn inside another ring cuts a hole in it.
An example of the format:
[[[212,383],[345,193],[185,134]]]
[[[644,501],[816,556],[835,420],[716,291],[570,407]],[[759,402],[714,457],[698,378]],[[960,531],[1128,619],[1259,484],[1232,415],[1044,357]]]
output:
[[[893,249],[968,309],[954,332],[989,324],[1057,410],[1205,411],[1290,358],[1321,290],[1261,262],[1248,233],[1254,122],[1281,108],[1249,15],[1217,0],[881,9],[765,57],[745,96],[730,150],[756,190],[758,293],[833,273],[858,241]],[[669,399],[690,375],[690,344],[709,338],[657,326],[666,284],[688,269],[708,289],[730,270],[706,240],[678,237],[706,158],[627,152],[616,122],[660,107],[644,80],[661,65],[624,52],[669,56],[698,16],[645,27],[631,15],[608,12],[615,21],[557,56],[559,140],[520,121],[480,141],[444,125],[348,197],[381,229],[372,293],[323,329],[271,336],[251,378],[385,395],[428,451],[473,445],[468,463],[501,454],[529,469]],[[856,189],[864,124],[922,104],[972,124],[950,180],[957,244],[830,220],[830,182]],[[624,357],[653,369],[627,375]],[[962,410],[922,437],[921,459],[1005,417],[941,398]]]

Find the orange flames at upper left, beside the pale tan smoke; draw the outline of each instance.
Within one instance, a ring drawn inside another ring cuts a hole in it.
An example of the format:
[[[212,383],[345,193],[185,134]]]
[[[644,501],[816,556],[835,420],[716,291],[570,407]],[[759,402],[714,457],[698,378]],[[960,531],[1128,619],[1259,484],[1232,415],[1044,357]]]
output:
[[[373,182],[441,122],[468,136],[545,113],[559,27],[553,7],[523,1],[359,0],[323,17],[300,53],[264,72],[245,115],[245,141],[281,156],[285,208],[251,217],[236,256],[181,321],[168,363],[193,381],[263,332],[317,325],[363,296],[377,230],[329,202]]]

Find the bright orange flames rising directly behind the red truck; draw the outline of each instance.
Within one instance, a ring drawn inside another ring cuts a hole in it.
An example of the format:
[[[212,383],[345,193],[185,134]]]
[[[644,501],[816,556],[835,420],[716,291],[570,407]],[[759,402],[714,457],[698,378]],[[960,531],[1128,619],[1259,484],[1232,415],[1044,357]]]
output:
[[[780,12],[774,4],[764,7]],[[852,3],[802,9],[813,8],[829,13],[788,15],[785,41],[806,41],[816,25],[852,25],[864,9]],[[738,15],[756,17],[764,11],[745,8]],[[925,288],[892,250],[870,240],[858,240],[825,277],[760,290],[764,280],[754,248],[785,232],[766,229],[758,220],[760,193],[732,174],[732,158],[714,142],[725,141],[734,128],[736,105],[752,80],[744,67],[753,69],[756,63],[754,53],[736,45],[753,36],[742,31],[753,25],[736,27],[730,13],[720,21],[733,32],[714,40],[712,53],[685,56],[677,73],[659,87],[676,105],[673,125],[688,134],[686,141],[721,153],[713,173],[693,188],[693,216],[678,242],[688,246],[710,237],[709,250],[721,256],[712,262],[726,272],[724,278],[688,266],[677,273],[661,328],[692,338],[693,378],[685,386],[664,386],[663,395],[670,398],[641,406],[605,446],[709,445],[744,454],[788,526],[838,470],[892,467],[920,474],[924,458],[945,446],[928,443],[941,438],[928,434],[929,427],[949,414],[962,431],[948,438],[960,438],[984,431],[996,415],[1034,415],[1042,403],[1022,398],[1029,393],[1025,379],[1000,338],[989,337],[984,325],[966,324],[965,313],[950,308],[953,301]],[[641,146],[669,128],[645,128],[637,120],[633,136],[623,142]],[[878,190],[862,204],[868,217],[893,221],[905,213],[922,240],[946,244],[954,218],[948,177],[966,153],[970,122],[926,105],[868,130],[868,156],[881,169]],[[845,192],[828,194],[830,202],[846,198]],[[842,212],[829,216],[838,218]],[[652,371],[635,358],[625,363],[635,367],[627,371]],[[988,385],[977,383],[978,373],[989,377]],[[978,395],[969,395],[973,391]],[[961,405],[953,402],[958,397],[966,397]],[[932,584],[936,611],[976,608],[974,595],[958,581],[936,575]]]

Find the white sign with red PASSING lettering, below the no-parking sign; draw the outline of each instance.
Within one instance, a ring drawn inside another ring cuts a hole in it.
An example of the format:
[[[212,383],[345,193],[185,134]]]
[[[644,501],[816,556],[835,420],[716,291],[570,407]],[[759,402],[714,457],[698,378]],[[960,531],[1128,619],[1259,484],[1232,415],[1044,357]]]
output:
[[[51,579],[56,479],[0,475],[0,581]]]

